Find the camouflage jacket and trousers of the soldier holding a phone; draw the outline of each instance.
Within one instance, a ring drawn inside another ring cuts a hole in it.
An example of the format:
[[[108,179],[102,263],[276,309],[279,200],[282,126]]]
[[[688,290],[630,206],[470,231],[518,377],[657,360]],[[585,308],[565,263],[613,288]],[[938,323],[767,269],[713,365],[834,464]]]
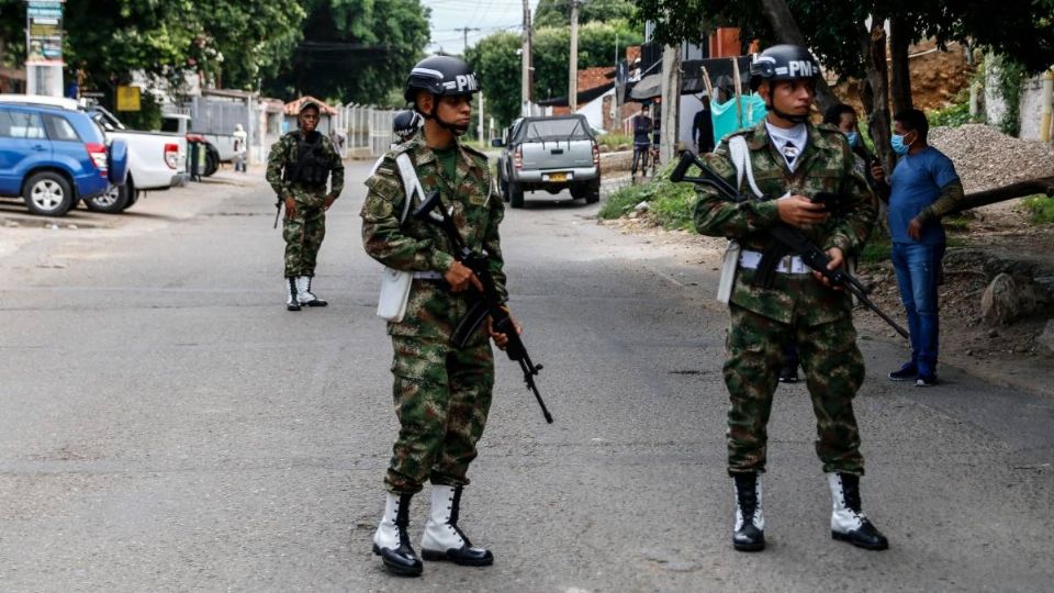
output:
[[[855,170],[845,136],[830,125],[808,126],[808,143],[790,174],[770,142],[765,122],[736,134],[747,141],[754,179],[766,197],[820,191],[850,198],[842,215],[801,228],[827,250],[839,247],[846,259],[857,253],[877,214],[874,195]],[[728,138],[705,158],[721,177],[736,183]],[[750,192],[750,189],[745,189]],[[700,189],[695,206],[699,233],[737,239],[743,249],[762,251],[766,228],[780,221],[774,200],[732,203]],[[730,299],[731,326],[726,342],[725,384],[728,414],[729,473],[764,471],[766,424],[783,365],[781,346],[795,343],[817,417],[816,452],[825,472],[863,474],[860,434],[852,399],[864,378],[856,347],[852,304],[845,292],[823,287],[811,273],[775,273],[771,288],[753,286],[755,270],[740,267]]]

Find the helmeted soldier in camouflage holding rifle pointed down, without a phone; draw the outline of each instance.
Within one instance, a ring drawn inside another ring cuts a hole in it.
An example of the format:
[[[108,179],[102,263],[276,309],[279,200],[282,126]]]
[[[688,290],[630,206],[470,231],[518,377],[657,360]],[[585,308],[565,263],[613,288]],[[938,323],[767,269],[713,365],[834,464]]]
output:
[[[458,527],[462,486],[483,434],[494,384],[490,339],[504,348],[507,336],[481,328],[458,349],[450,344],[457,322],[473,301],[472,272],[450,255],[452,246],[434,226],[400,222],[406,191],[395,158],[407,155],[426,194],[440,192],[468,246],[490,255],[491,273],[504,300],[505,273],[498,224],[504,204],[493,190],[486,157],[458,142],[469,125],[479,88],[468,65],[448,56],[417,64],[406,83],[406,101],[425,119],[422,133],[391,150],[366,181],[362,243],[385,266],[414,275],[401,322],[388,333],[395,351],[393,395],[399,437],[384,479],[384,516],[373,551],[389,571],[419,575],[422,563],[406,534],[411,497],[431,482],[431,512],[421,541],[426,560],[487,566],[493,555],[473,547]],[[414,200],[412,209],[418,205]]]

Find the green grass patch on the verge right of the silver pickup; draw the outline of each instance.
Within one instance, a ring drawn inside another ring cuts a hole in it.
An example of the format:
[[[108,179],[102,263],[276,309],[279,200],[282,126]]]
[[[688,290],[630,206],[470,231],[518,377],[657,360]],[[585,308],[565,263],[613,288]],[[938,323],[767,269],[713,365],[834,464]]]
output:
[[[648,216],[658,225],[666,230],[693,230],[695,188],[691,183],[670,181],[670,170],[668,168],[661,171],[647,182],[619,188],[613,192],[601,208],[599,217],[618,219],[640,202],[648,202]]]

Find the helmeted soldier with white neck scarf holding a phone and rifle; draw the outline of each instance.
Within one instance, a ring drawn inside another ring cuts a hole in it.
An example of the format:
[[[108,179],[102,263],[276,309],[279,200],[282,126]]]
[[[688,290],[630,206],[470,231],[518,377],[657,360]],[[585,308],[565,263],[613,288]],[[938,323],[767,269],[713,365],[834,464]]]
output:
[[[706,159],[732,184],[742,183],[751,169],[751,187],[743,191],[758,198],[735,203],[700,189],[695,208],[699,233],[735,239],[742,247],[729,302],[724,374],[731,399],[728,471],[737,503],[732,544],[743,551],[765,545],[759,473],[765,470],[766,424],[783,366],[781,347],[788,343],[798,348],[817,417],[816,452],[833,497],[832,537],[867,549],[888,546],[861,510],[864,459],[852,401],[864,379],[864,362],[850,298],[798,257],[780,261],[771,287],[753,281],[761,251],[771,240],[767,228],[781,221],[826,250],[832,269],[861,249],[875,221],[875,199],[854,170],[844,135],[808,120],[818,75],[819,66],[801,47],[778,45],[756,58],[751,83],[765,99],[766,119],[726,137]],[[736,136],[745,141],[744,146]],[[733,145],[745,149],[740,167]],[[839,213],[827,213],[809,199],[818,192],[839,193],[848,204]]]

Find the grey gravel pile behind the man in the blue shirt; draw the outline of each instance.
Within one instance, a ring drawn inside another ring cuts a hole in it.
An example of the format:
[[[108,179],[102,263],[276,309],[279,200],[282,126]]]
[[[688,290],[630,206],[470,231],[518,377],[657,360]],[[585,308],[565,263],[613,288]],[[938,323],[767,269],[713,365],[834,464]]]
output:
[[[929,142],[955,164],[966,193],[1054,177],[1054,149],[984,124],[934,127]]]

